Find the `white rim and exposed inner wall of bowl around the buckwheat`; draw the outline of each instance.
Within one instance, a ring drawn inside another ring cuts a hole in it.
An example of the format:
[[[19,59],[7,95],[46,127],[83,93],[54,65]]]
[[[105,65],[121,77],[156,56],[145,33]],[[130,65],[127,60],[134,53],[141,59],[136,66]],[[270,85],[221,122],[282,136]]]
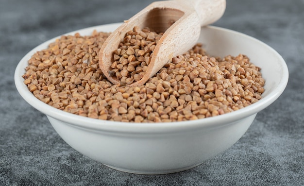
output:
[[[94,30],[97,30],[99,32],[111,32],[118,28],[120,24],[121,23],[114,23],[90,27],[67,34],[80,33],[81,35],[89,35]],[[34,48],[32,51],[27,53],[21,59],[15,71],[15,84],[18,92],[25,99],[25,101],[27,101],[40,112],[53,118],[58,118],[60,120],[66,121],[68,123],[73,123],[82,127],[85,125],[85,127],[94,129],[115,129],[129,131],[147,129],[150,130],[150,128],[153,128],[159,129],[159,131],[161,131],[164,130],[164,128],[172,128],[172,125],[174,125],[175,128],[180,127],[180,129],[188,128],[191,126],[197,127],[199,125],[221,125],[240,118],[248,117],[269,106],[282,94],[288,81],[288,70],[284,59],[268,45],[245,34],[241,34],[235,31],[219,27],[208,26],[202,28],[201,36],[198,41],[199,43],[203,43],[203,46],[208,54],[220,57],[229,54],[234,56],[238,55],[239,53],[245,54],[250,58],[251,62],[254,65],[262,68],[262,75],[263,78],[266,80],[266,83],[264,87],[265,92],[263,93],[263,98],[260,101],[257,101],[256,103],[248,107],[242,108],[232,113],[192,121],[152,124],[146,123],[145,125],[143,125],[142,123],[123,123],[86,118],[55,109],[43,103],[42,101],[39,101],[34,97],[34,95],[28,90],[27,86],[23,83],[24,80],[21,76],[25,72],[27,61],[36,51],[46,49],[51,42],[55,41],[56,38],[42,43],[41,45]],[[133,126],[134,128],[132,128]]]

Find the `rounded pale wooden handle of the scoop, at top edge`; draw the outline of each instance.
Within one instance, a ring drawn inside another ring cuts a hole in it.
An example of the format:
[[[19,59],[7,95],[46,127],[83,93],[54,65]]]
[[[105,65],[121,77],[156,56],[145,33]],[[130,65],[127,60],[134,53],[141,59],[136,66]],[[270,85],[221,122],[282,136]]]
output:
[[[226,0],[177,0],[192,6],[196,11],[201,26],[216,22],[225,12]]]

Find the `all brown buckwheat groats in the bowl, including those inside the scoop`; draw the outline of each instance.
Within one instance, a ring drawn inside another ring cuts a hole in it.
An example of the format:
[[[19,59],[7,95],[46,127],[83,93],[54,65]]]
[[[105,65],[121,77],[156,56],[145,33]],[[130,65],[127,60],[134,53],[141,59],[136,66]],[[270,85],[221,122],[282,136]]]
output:
[[[152,34],[151,34],[152,33]],[[135,27],[114,53],[113,85],[99,68],[98,53],[108,33],[62,36],[28,61],[24,84],[39,100],[80,116],[124,122],[170,122],[229,113],[261,99],[260,68],[239,54],[207,56],[197,44],[172,58],[139,87],[161,33]]]

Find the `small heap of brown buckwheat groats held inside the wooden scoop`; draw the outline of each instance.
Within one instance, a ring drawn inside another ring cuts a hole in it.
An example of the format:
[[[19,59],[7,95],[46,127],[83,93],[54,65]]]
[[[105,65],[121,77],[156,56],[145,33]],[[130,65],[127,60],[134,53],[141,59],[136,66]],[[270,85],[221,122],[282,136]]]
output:
[[[109,74],[116,77],[121,85],[131,85],[145,75],[158,40],[163,33],[152,32],[149,28],[134,27],[129,31],[114,53],[114,63]]]

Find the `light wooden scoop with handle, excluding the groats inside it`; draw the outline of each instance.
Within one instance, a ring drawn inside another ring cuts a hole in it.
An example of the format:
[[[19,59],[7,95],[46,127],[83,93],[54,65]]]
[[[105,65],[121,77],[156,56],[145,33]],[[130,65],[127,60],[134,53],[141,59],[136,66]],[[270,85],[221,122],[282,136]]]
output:
[[[113,84],[119,84],[116,77],[109,75],[114,62],[114,51],[118,49],[125,34],[135,26],[149,27],[163,32],[155,46],[146,74],[130,86],[140,86],[163,68],[173,57],[193,47],[201,33],[201,27],[217,21],[226,8],[225,0],[168,0],[155,1],[118,27],[101,46],[99,65],[103,74]]]

